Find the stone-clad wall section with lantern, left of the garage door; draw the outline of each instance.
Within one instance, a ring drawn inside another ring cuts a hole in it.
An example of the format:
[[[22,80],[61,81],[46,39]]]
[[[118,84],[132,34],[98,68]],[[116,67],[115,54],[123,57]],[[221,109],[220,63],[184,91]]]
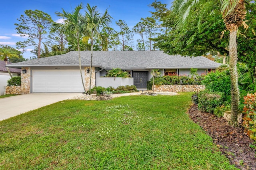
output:
[[[22,94],[30,93],[30,67],[22,67],[23,69],[27,70],[27,73],[21,73],[21,92]]]

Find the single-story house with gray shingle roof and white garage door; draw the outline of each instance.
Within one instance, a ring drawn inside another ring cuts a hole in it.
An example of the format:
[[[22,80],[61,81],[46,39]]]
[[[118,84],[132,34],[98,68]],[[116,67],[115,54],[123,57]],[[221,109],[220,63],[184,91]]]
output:
[[[111,84],[106,78],[106,70],[121,68],[128,71],[131,78],[120,85],[134,84],[137,88],[146,88],[146,82],[152,78],[152,69],[160,69],[163,74],[190,73],[190,68],[198,68],[198,74],[207,73],[220,66],[205,57],[182,57],[167,55],[163,51],[93,51],[92,70],[90,70],[90,51],[81,51],[82,72],[86,89],[89,89],[90,71],[92,71],[92,87]],[[78,51],[70,51],[36,60],[8,64],[10,68],[26,69],[22,74],[24,93],[38,92],[83,92],[78,64]],[[117,81],[117,80],[116,80]]]

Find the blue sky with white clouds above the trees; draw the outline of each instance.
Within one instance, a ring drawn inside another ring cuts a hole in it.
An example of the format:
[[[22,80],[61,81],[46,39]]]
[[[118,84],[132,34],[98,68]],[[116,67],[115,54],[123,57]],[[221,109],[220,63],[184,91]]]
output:
[[[170,8],[172,0],[159,0],[163,4],[168,4]],[[140,18],[151,16],[149,11],[154,11],[153,8],[148,7],[148,4],[154,0],[4,0],[1,2],[0,10],[0,44],[9,45],[16,48],[15,43],[24,41],[15,30],[14,23],[18,23],[17,18],[24,14],[25,10],[41,10],[49,14],[54,21],[59,18],[55,12],[65,11],[71,12],[78,4],[90,4],[90,6],[97,6],[100,12],[104,12],[108,8],[110,16],[112,16],[112,27],[115,28],[115,21],[125,20],[130,28],[140,21]],[[31,56],[30,49],[24,53],[25,58]]]

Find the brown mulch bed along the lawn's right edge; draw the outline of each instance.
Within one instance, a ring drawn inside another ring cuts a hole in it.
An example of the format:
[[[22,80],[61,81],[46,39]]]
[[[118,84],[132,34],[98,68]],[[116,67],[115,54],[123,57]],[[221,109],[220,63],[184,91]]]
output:
[[[190,118],[212,137],[231,164],[241,170],[256,170],[256,150],[249,147],[254,141],[244,133],[244,127],[230,127],[223,117],[203,113],[198,110],[197,105],[191,106],[188,113]]]

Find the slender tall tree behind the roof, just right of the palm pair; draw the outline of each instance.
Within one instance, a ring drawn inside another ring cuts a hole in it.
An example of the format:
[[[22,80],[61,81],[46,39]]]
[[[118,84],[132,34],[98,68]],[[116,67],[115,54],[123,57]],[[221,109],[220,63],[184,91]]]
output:
[[[116,21],[116,25],[120,28],[120,31],[118,31],[118,35],[120,37],[121,42],[121,50],[126,51],[131,48],[130,41],[133,38],[133,33],[128,27],[127,23],[124,20],[118,20]]]

